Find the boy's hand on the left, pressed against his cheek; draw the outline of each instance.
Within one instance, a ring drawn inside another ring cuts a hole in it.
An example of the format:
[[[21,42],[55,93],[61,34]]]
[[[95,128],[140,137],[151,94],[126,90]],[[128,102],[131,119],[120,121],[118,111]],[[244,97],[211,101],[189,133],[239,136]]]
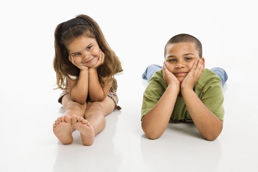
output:
[[[179,80],[169,71],[169,69],[167,68],[167,66],[165,64],[165,61],[163,63],[162,75],[163,75],[163,79],[165,80],[165,83],[167,86],[172,85],[172,86],[180,88]]]

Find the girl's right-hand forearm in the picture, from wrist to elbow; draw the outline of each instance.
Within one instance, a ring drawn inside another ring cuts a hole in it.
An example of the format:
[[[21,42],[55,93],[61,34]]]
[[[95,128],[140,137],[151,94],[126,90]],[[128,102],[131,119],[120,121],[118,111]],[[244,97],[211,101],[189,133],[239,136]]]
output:
[[[102,101],[106,97],[101,87],[96,69],[89,69],[89,97],[92,102]]]

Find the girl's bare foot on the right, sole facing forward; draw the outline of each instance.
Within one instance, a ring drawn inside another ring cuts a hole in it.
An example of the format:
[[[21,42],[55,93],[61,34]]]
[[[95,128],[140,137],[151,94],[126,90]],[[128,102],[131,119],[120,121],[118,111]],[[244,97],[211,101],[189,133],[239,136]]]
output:
[[[89,123],[86,119],[82,116],[72,115],[72,124],[76,130],[81,132],[82,142],[84,145],[91,145],[93,144],[95,131],[93,125]]]

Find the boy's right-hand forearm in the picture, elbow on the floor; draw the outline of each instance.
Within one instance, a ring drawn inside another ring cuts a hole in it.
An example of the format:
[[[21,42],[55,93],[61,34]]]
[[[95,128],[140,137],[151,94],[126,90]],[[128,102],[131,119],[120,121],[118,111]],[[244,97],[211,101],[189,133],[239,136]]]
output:
[[[208,141],[215,140],[222,131],[222,121],[210,112],[193,90],[183,89],[181,90],[181,93],[187,110],[202,137]]]

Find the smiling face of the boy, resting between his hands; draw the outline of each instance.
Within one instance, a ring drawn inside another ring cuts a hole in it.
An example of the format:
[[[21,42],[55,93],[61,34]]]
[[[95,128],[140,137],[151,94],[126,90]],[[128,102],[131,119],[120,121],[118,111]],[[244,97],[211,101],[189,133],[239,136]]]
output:
[[[167,45],[165,64],[180,83],[183,82],[194,63],[198,62],[199,59],[199,52],[194,43],[179,42]],[[201,57],[201,60],[204,65],[204,58]]]

